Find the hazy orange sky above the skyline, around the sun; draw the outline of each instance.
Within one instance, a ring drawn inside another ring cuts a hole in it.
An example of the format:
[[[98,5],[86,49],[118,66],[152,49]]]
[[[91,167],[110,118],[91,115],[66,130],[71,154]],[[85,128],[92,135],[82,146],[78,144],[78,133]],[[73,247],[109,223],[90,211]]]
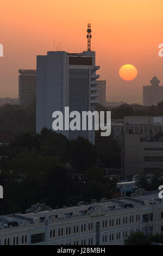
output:
[[[53,50],[54,39],[62,50],[85,50],[88,22],[107,100],[141,102],[154,73],[163,85],[162,0],[5,0],[0,9],[0,97],[18,96],[18,69],[35,69],[36,55]],[[118,76],[123,64],[137,68],[134,81]]]

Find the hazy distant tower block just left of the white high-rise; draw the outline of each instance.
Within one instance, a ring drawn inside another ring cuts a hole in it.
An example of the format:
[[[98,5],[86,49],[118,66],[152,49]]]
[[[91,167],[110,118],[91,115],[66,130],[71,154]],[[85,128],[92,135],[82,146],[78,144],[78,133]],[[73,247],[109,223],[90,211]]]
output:
[[[18,72],[18,102],[21,106],[28,106],[36,97],[36,70],[20,69]]]

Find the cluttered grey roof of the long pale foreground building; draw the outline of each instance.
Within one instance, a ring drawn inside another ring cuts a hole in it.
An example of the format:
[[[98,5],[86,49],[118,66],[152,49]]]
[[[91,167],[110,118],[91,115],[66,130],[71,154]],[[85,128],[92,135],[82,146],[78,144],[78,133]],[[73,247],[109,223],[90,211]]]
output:
[[[114,211],[118,209],[134,208],[137,203],[140,203],[142,206],[145,205],[146,201],[162,204],[158,197],[158,191],[149,191],[145,196],[138,196],[132,198],[123,197],[105,200],[98,203],[86,204],[82,206],[73,206],[41,212],[32,212],[29,214],[11,214],[0,216],[0,225],[1,227],[7,228],[9,227],[9,225],[15,227],[18,225],[18,223],[23,223],[25,221],[29,223],[34,223],[37,218],[40,218],[40,221],[43,221],[44,218],[52,216],[58,219],[65,219],[70,217],[89,215],[96,208],[96,206],[100,206],[101,210],[104,212]]]

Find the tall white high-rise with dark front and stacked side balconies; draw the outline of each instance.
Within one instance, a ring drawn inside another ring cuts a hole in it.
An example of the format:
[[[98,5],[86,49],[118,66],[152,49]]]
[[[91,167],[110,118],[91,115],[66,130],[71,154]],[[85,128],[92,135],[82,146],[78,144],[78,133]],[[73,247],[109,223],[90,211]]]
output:
[[[64,114],[66,106],[71,111],[95,111],[99,75],[96,70],[95,52],[47,52],[37,56],[36,83],[36,132],[43,127],[52,129],[54,111]],[[95,143],[95,131],[59,131],[67,138],[82,136]]]

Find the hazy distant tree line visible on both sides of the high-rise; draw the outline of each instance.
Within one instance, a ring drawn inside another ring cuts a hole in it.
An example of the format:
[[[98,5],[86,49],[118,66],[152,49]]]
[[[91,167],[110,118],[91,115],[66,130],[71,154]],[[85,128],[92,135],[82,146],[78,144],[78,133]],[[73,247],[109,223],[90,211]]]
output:
[[[97,111],[111,111],[111,119],[123,119],[126,115],[163,115],[163,101],[157,106],[124,103],[114,108],[97,105]],[[0,107],[0,133],[20,134],[28,130],[35,133],[36,103],[30,106],[6,104]]]

